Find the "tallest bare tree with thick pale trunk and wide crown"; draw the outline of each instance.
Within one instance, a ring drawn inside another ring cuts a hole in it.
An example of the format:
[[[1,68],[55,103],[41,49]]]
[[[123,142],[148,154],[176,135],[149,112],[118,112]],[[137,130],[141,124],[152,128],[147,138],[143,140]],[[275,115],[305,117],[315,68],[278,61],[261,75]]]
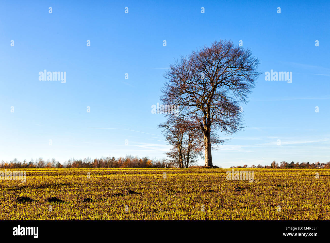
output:
[[[215,41],[171,64],[161,100],[176,105],[180,116],[198,123],[204,136],[205,166],[213,166],[211,133],[232,134],[243,128],[240,102],[261,74],[249,49]],[[220,139],[218,141],[221,141]]]

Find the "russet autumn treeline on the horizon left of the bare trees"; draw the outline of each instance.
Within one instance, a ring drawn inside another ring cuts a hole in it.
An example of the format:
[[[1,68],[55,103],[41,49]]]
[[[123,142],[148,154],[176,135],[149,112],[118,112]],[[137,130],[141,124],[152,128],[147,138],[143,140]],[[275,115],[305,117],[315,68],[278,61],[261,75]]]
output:
[[[0,168],[15,169],[15,168],[172,168],[174,164],[168,163],[166,159],[150,159],[149,157],[139,158],[137,156],[126,155],[125,157],[105,157],[91,160],[89,157],[81,159],[69,159],[63,164],[59,163],[55,158],[45,161],[43,158],[23,162],[13,159],[10,162],[1,161]]]

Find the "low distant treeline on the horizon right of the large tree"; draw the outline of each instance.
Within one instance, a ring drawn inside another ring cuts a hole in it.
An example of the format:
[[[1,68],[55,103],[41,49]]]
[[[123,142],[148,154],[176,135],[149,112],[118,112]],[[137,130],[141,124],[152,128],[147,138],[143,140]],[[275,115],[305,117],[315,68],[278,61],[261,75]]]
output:
[[[320,164],[320,162],[315,162],[313,164],[310,164],[309,162],[302,162],[299,164],[299,162],[294,163],[293,161],[291,163],[287,163],[285,161],[282,161],[279,165],[279,163],[277,163],[275,160],[270,164],[270,165],[251,165],[250,167],[248,167],[248,165],[244,165],[244,166],[232,166],[230,168],[315,168],[316,166],[321,165],[324,168],[330,168],[330,162],[328,163],[322,163]]]

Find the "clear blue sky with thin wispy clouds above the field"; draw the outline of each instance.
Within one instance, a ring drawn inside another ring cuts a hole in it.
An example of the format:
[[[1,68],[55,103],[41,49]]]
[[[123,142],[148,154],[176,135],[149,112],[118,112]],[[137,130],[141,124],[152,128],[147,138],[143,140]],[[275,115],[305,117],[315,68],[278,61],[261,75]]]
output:
[[[0,160],[165,157],[156,128],[165,118],[151,113],[163,73],[180,55],[231,39],[263,74],[243,105],[247,128],[213,163],[330,161],[329,2],[157,2],[1,1]],[[44,69],[65,71],[66,83],[40,81]],[[292,83],[265,81],[271,69],[292,72]]]

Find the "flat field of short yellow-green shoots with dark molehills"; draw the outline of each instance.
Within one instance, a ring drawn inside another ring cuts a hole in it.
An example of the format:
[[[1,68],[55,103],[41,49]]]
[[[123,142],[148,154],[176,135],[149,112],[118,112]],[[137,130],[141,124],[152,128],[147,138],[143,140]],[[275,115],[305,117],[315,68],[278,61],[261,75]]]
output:
[[[228,170],[27,169],[0,181],[0,220],[330,220],[330,169]]]

